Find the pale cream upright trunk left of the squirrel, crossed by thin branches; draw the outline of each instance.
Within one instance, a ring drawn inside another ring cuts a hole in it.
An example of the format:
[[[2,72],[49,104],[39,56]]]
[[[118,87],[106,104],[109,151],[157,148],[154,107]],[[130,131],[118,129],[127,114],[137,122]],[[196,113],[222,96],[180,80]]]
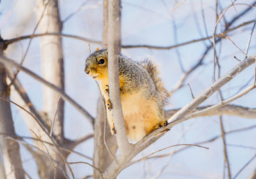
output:
[[[45,7],[45,1],[38,0],[38,17],[41,17]],[[61,33],[62,24],[58,10],[58,0],[50,1],[45,10],[44,17],[38,26],[40,33]],[[58,86],[64,91],[64,66],[63,66],[63,49],[60,36],[42,36],[40,38],[42,74],[46,81]],[[53,121],[59,95],[52,89],[43,87],[44,107],[43,111],[49,120]],[[58,143],[62,143],[63,136],[63,119],[64,119],[64,100],[60,98],[58,112],[52,133],[56,136]]]

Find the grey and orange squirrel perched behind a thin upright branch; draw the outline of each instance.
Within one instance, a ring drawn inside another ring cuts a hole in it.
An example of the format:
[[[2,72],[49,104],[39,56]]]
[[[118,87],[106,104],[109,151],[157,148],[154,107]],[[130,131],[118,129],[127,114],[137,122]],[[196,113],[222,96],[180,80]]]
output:
[[[164,88],[157,66],[118,55],[120,100],[129,141],[139,141],[155,128],[166,125],[163,106],[170,92]],[[108,50],[96,50],[86,59],[84,72],[99,82],[111,134],[115,134],[108,87]]]

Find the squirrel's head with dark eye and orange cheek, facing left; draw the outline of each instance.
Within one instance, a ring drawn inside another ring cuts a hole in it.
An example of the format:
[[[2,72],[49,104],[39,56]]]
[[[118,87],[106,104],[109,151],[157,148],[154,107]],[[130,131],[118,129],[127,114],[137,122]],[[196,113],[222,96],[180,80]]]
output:
[[[108,51],[103,49],[88,56],[84,72],[93,79],[108,77]]]

